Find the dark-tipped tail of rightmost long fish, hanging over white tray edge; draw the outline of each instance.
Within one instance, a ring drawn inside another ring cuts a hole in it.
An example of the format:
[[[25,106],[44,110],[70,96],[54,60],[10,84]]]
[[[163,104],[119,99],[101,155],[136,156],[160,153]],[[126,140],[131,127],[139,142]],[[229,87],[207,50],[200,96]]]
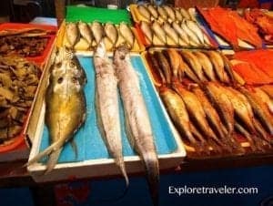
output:
[[[159,189],[159,168],[157,154],[155,152],[145,152],[143,154],[143,160],[147,170],[147,182],[153,205],[157,206]]]

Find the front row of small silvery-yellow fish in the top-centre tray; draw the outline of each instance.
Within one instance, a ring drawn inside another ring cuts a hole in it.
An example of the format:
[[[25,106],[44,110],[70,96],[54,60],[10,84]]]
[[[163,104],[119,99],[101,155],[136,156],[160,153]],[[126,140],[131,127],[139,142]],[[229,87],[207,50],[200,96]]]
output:
[[[140,22],[148,46],[211,47],[207,34],[193,20],[182,22]]]

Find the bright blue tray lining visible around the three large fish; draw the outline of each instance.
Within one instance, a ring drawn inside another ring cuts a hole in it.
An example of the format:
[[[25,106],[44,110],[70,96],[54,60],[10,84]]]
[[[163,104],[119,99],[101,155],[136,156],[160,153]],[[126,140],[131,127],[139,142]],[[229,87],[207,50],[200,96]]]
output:
[[[92,57],[78,57],[80,64],[86,70],[87,84],[85,88],[86,93],[86,107],[87,117],[85,125],[78,130],[74,140],[77,145],[78,154],[75,155],[69,143],[66,143],[58,162],[71,162],[83,160],[97,160],[109,158],[105,143],[100,135],[96,124],[96,108],[95,108],[95,72]],[[133,67],[139,75],[140,88],[145,98],[149,118],[151,121],[154,139],[157,147],[157,154],[169,154],[177,149],[177,142],[174,139],[173,133],[169,127],[167,119],[164,116],[159,99],[150,81],[146,67],[140,56],[132,56],[131,61]],[[126,130],[124,124],[124,112],[119,99],[119,110],[121,118],[121,131],[123,141],[124,156],[135,155],[131,149],[126,138]],[[49,136],[46,126],[44,127],[43,137],[41,141],[40,151],[49,146]],[[45,160],[44,160],[45,161]]]

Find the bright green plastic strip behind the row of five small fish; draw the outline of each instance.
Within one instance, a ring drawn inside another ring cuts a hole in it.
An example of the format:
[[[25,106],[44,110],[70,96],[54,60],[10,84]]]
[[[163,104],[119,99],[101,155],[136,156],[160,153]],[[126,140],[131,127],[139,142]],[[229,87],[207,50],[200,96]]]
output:
[[[97,7],[66,6],[66,22],[112,22],[115,25],[126,22],[131,25],[130,15],[126,9],[106,9]]]

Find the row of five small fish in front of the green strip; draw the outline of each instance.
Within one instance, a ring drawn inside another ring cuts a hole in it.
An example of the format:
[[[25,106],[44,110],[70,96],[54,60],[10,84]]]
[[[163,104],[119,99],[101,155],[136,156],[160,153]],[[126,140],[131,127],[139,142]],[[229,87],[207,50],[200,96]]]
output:
[[[96,21],[88,24],[85,22],[67,23],[66,39],[72,48],[75,48],[80,39],[84,40],[89,49],[97,46],[102,39],[107,50],[121,45],[133,48],[137,44],[134,32],[126,23],[120,23],[118,26],[112,23],[103,25]]]

